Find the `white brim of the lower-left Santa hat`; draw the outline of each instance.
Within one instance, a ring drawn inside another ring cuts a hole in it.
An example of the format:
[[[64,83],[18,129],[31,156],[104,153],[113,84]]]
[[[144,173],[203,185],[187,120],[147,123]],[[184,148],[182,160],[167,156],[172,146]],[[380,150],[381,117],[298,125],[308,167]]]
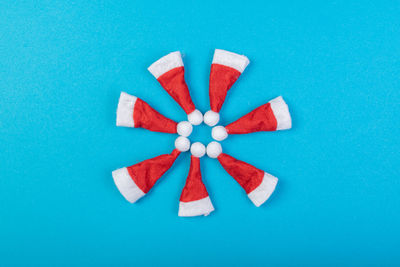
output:
[[[132,180],[127,168],[113,171],[112,176],[119,192],[121,192],[129,202],[134,203],[145,195],[145,193]]]

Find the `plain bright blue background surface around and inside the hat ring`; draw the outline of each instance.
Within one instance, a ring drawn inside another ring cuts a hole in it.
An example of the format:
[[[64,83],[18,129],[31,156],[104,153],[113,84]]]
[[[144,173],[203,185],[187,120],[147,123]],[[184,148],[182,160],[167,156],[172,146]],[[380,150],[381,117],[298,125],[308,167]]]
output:
[[[400,264],[399,14],[398,1],[2,1],[0,265]],[[184,120],[147,71],[180,50],[205,112],[214,48],[251,60],[223,124],[279,95],[290,107],[291,130],[223,142],[277,190],[256,208],[205,157],[216,211],[179,218],[185,153],[129,204],[111,171],[176,135],[116,127],[120,91]]]

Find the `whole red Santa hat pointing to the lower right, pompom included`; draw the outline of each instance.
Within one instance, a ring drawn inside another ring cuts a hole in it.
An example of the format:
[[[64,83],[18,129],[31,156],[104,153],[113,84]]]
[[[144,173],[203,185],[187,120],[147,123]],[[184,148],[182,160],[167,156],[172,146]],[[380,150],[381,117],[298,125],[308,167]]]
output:
[[[211,142],[207,146],[207,155],[218,159],[222,167],[240,184],[257,207],[267,201],[274,192],[278,178],[222,153],[219,143]]]

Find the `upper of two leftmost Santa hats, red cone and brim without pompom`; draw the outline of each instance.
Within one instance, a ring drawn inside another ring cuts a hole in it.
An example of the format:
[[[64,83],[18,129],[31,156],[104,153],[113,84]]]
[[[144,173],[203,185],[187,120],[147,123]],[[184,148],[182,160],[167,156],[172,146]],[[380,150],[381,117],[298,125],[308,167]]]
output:
[[[153,109],[142,99],[121,92],[117,126],[145,128],[154,132],[177,133],[178,124]]]

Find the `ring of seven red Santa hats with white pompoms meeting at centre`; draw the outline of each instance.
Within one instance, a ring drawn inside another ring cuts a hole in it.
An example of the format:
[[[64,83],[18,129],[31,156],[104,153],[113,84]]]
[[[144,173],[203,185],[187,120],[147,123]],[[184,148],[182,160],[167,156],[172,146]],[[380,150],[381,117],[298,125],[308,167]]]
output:
[[[215,126],[219,122],[219,111],[229,89],[248,64],[248,58],[243,55],[215,50],[209,82],[211,110],[204,114],[204,122],[213,127],[212,137],[216,141],[222,141],[230,134],[285,130],[292,126],[288,106],[282,97],[257,107],[226,126]],[[278,182],[276,177],[222,153],[222,147],[216,141],[209,143],[207,148],[200,142],[190,144],[187,137],[192,132],[192,125],[201,124],[203,115],[196,109],[190,97],[180,52],[162,57],[148,70],[186,112],[188,121],[176,123],[161,115],[142,99],[121,93],[117,109],[117,126],[179,134],[175,140],[175,149],[170,154],[163,154],[113,171],[114,182],[126,200],[134,203],[145,196],[158,179],[171,168],[180,153],[190,150],[190,170],[180,197],[179,216],[208,215],[214,210],[200,172],[200,158],[206,153],[220,162],[244,189],[254,205],[259,207],[263,204],[275,190]]]

